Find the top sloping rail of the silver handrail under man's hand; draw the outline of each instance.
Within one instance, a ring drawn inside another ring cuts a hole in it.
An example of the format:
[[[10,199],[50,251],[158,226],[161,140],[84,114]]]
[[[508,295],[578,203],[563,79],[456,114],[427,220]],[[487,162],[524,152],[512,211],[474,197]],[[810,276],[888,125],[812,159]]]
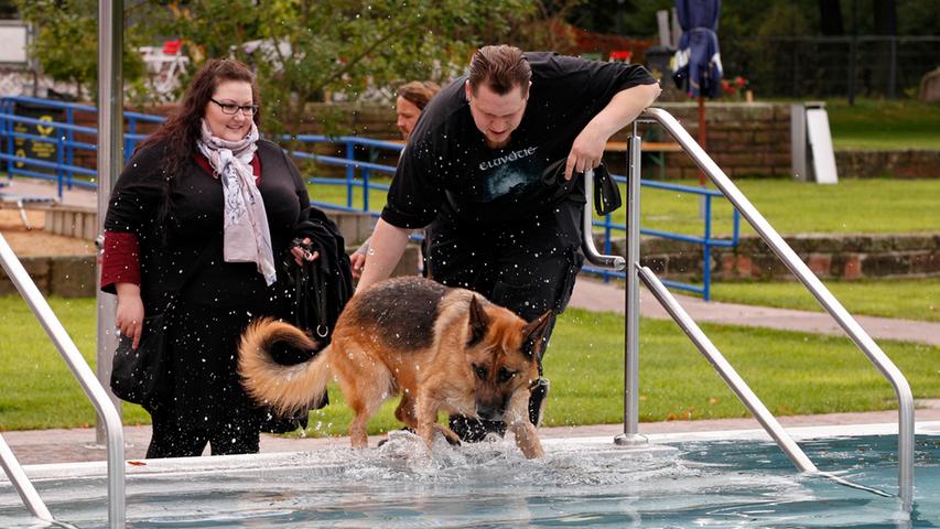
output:
[[[898,399],[898,497],[904,508],[910,511],[914,503],[914,396],[910,386],[900,370],[878,347],[874,339],[862,328],[854,317],[842,306],[839,300],[822,284],[809,267],[790,248],[782,237],[770,226],[770,223],[750,204],[750,201],[732,183],[731,179],[718,168],[714,160],[705,153],[691,134],[661,108],[648,108],[638,121],[656,121],[665,128],[692,158],[699,168],[709,176],[712,183],[727,197],[744,218],[754,227],[764,241],[784,261],[787,268],[813,294],[822,307],[839,323],[845,334],[868,357],[872,364],[884,375],[895,389]],[[634,125],[636,127],[636,123]],[[636,137],[636,134],[635,134]],[[638,138],[638,137],[637,137]],[[638,153],[635,153],[638,154]],[[631,168],[633,169],[633,168]],[[638,263],[628,257],[628,266]],[[630,388],[636,391],[638,388]],[[628,389],[627,391],[630,391]],[[626,421],[625,421],[626,422]]]

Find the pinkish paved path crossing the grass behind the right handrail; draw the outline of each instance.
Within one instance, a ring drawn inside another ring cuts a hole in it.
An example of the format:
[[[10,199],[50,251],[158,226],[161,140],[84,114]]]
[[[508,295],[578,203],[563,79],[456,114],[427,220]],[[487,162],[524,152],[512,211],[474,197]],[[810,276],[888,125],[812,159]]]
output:
[[[701,298],[674,295],[682,307],[692,316],[692,320],[699,323],[725,323],[845,335],[835,320],[824,312],[738,305],[717,301],[705,302]],[[587,278],[579,278],[574,294],[571,298],[571,306],[591,311],[609,311],[623,314],[625,312],[624,305],[624,289],[613,283],[603,283]],[[640,289],[640,315],[657,320],[670,319],[659,301],[646,289]],[[899,339],[940,346],[940,323],[875,316],[855,316],[855,320],[875,339]]]

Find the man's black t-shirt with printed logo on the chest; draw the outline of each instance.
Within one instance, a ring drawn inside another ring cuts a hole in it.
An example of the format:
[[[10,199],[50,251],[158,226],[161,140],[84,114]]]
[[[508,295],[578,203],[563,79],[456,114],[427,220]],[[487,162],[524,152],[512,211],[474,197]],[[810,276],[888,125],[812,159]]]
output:
[[[382,219],[420,228],[435,218],[456,227],[520,222],[563,199],[584,202],[574,179],[545,170],[568,158],[582,129],[618,91],[656,79],[638,65],[548,52],[526,53],[532,87],[526,114],[503,149],[486,145],[464,93],[466,76],[437,94],[402,153]]]

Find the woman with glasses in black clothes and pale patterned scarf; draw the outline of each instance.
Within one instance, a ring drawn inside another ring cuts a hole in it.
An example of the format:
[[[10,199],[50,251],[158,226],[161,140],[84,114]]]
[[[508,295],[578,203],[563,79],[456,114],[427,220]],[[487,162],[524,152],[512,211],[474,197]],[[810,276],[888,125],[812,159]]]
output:
[[[138,148],[105,219],[101,289],[137,349],[144,317],[166,311],[165,370],[148,457],[258,452],[266,411],[245,393],[237,345],[250,320],[289,319],[284,260],[314,260],[311,206],[293,162],[258,134],[255,76],[209,61],[179,111]],[[170,302],[175,299],[175,302]],[[154,333],[155,334],[155,333]]]

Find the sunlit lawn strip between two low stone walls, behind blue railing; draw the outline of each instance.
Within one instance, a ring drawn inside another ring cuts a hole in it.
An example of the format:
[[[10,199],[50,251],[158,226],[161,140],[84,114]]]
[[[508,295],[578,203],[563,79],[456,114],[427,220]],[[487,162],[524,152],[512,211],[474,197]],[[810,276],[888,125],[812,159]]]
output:
[[[698,186],[698,181],[674,183]],[[739,180],[735,182],[754,206],[781,235],[901,234],[940,230],[940,179],[937,180],[843,180],[838,185],[817,185],[789,180]],[[626,191],[622,190],[626,199]],[[650,187],[641,188],[642,227],[684,235],[703,235],[699,197]],[[311,186],[311,197],[331,204],[346,204],[346,188]],[[361,207],[361,191],[355,193]],[[385,192],[372,191],[370,208],[380,210]],[[731,236],[732,207],[724,198],[712,202],[714,236]],[[614,212],[613,222],[626,222],[626,208]],[[742,234],[754,234],[741,219]]]

